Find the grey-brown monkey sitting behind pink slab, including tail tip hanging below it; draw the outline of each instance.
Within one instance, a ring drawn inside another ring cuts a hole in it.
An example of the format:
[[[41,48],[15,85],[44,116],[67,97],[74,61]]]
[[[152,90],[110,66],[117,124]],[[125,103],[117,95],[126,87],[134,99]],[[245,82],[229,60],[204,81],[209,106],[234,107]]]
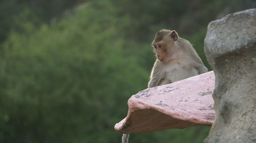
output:
[[[152,46],[156,61],[147,88],[208,72],[194,47],[189,41],[179,37],[176,31],[159,30]],[[123,134],[122,143],[127,143],[128,138],[129,134]]]

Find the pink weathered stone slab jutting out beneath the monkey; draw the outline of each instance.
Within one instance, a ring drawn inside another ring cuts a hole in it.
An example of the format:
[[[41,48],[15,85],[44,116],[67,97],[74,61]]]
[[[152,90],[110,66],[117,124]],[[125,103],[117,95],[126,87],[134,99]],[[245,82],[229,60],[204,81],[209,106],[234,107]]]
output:
[[[213,71],[143,90],[128,100],[119,133],[147,133],[189,126],[211,126],[215,118]]]

